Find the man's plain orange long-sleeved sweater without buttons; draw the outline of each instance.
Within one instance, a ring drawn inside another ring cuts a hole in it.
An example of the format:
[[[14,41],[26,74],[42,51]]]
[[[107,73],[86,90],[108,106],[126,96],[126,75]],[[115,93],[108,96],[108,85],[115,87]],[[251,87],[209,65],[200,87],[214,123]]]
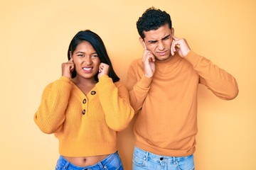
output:
[[[155,62],[156,71],[144,76],[142,60],[129,67],[127,88],[138,113],[134,125],[137,147],[154,154],[185,157],[196,149],[198,84],[222,99],[238,95],[235,78],[191,51],[184,58]]]

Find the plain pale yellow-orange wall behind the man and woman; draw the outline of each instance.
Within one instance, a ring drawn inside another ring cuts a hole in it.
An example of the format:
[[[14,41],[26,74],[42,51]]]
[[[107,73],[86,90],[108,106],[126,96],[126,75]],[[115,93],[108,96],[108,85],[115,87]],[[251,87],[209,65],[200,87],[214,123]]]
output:
[[[196,169],[256,169],[256,1],[0,1],[1,169],[54,169],[58,142],[33,123],[44,87],[58,79],[71,38],[98,33],[122,81],[142,57],[136,21],[155,6],[171,14],[175,35],[237,79],[240,94],[222,101],[199,86]],[[132,169],[131,123],[119,154]]]

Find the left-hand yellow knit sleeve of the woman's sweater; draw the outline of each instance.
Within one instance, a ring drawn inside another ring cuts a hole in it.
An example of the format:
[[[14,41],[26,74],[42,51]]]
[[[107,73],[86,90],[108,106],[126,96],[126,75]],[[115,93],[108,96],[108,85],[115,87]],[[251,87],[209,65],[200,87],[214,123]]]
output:
[[[34,115],[34,121],[41,131],[50,134],[62,128],[71,89],[70,79],[66,77],[60,77],[46,86]]]

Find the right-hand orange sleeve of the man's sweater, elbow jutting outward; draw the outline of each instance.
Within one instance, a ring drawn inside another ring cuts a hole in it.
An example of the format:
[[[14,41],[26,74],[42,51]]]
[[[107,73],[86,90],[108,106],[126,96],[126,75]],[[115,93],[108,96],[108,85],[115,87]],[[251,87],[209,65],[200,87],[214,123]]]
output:
[[[238,96],[238,84],[231,74],[193,51],[190,51],[184,58],[198,72],[200,83],[207,86],[213,94],[225,100]]]

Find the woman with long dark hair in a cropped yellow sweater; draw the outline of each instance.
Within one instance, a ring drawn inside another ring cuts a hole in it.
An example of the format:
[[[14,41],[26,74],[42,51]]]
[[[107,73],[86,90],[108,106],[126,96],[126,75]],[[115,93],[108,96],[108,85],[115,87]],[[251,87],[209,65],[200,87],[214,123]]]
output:
[[[117,131],[134,116],[99,35],[78,32],[60,79],[48,84],[34,115],[41,131],[59,140],[55,169],[123,169]]]

